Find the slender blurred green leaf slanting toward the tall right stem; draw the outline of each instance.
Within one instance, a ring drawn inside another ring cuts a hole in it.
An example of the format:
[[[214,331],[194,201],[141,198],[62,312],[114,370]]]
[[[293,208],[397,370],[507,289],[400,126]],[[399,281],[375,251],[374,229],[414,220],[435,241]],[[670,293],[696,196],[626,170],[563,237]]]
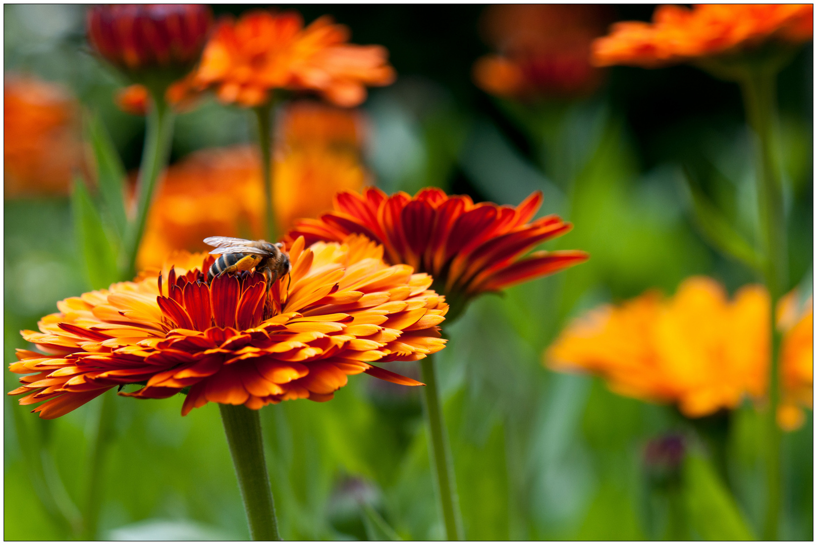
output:
[[[685,173],[684,179],[694,212],[694,221],[704,238],[718,251],[742,261],[752,269],[761,270],[761,256],[752,244],[743,239],[703,191],[691,181],[689,172]]]

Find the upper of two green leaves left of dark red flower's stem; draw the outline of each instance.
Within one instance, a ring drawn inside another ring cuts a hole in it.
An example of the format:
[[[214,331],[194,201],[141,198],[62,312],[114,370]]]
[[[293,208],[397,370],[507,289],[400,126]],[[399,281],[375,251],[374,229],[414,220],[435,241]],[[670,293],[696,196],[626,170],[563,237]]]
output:
[[[105,124],[96,114],[88,116],[88,137],[96,159],[96,175],[99,181],[100,194],[105,203],[106,216],[114,226],[114,232],[121,241],[127,229],[127,214],[123,199],[123,182],[125,168],[119,154],[111,141]]]

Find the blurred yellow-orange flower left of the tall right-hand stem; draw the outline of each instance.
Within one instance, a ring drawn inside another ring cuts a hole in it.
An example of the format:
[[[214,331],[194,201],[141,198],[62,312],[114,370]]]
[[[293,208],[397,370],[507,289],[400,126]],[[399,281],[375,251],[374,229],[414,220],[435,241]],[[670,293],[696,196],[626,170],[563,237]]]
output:
[[[693,277],[669,300],[648,292],[592,310],[545,359],[551,369],[597,373],[619,394],[675,403],[698,418],[766,391],[769,316],[765,288],[744,286],[730,302],[720,284]]]

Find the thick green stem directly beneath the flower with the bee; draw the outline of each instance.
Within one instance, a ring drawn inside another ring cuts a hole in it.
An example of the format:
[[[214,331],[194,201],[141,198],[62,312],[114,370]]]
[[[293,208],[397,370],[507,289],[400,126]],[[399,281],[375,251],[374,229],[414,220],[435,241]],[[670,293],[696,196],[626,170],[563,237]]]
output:
[[[250,537],[253,541],[280,541],[258,411],[227,404],[220,404],[219,409],[247,512]]]

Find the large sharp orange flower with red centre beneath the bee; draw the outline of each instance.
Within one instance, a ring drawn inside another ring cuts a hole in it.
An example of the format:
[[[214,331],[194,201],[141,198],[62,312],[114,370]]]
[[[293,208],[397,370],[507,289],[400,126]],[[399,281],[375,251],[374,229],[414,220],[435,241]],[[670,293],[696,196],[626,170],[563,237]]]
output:
[[[346,376],[368,373],[420,382],[367,362],[420,360],[445,341],[437,324],[448,306],[428,275],[386,266],[382,248],[363,237],[289,248],[292,279],[268,290],[257,272],[206,282],[213,257],[176,255],[176,267],[57,304],[59,313],[22,332],[38,350],[19,350],[13,373],[26,373],[20,404],[57,418],[105,391],[166,398],[185,391],[181,413],[208,401],[265,404],[326,401]],[[29,374],[33,373],[33,374]]]

